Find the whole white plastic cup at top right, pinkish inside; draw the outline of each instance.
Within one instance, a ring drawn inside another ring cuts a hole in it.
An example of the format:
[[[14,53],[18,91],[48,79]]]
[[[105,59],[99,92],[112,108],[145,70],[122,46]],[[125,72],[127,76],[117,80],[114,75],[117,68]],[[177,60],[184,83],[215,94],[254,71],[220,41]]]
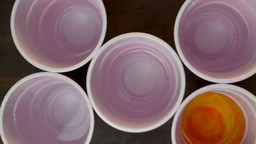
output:
[[[178,13],[174,39],[184,64],[216,83],[256,73],[256,1],[187,0]]]

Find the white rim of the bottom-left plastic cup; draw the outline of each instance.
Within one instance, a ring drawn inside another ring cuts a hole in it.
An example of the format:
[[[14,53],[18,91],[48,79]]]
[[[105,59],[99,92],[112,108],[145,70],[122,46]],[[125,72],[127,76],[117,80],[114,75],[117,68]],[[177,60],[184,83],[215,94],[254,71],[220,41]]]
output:
[[[22,83],[26,82],[27,80],[33,79],[34,77],[38,77],[38,76],[54,76],[59,79],[65,80],[68,83],[70,83],[72,86],[74,86],[83,95],[83,97],[85,99],[85,103],[89,107],[89,115],[90,115],[90,129],[89,129],[88,137],[85,141],[85,144],[89,144],[91,141],[91,138],[92,138],[92,134],[94,132],[94,111],[92,110],[90,100],[88,99],[88,96],[84,92],[83,88],[80,87],[75,81],[73,81],[69,77],[61,75],[61,74],[57,74],[57,73],[50,73],[50,72],[42,72],[42,73],[28,75],[28,76],[24,77],[23,79],[19,80],[18,82],[16,82],[15,85],[9,89],[9,91],[5,95],[3,101],[7,101],[10,98],[10,95],[13,93],[13,91],[15,90],[16,87],[19,87]],[[1,121],[3,121],[4,110],[5,110],[5,105],[3,105],[3,103],[2,103],[1,107],[0,107],[0,115],[2,116],[2,117],[0,117]],[[8,143],[7,139],[5,138],[3,123],[0,123],[0,135],[1,135],[3,143]]]

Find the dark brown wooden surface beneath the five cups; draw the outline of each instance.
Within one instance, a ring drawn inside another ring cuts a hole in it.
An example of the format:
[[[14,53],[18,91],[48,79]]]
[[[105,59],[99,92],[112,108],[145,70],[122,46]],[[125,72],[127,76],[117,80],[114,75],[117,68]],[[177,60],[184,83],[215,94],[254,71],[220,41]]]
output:
[[[107,10],[108,27],[104,43],[124,33],[144,32],[153,34],[165,40],[175,50],[173,40],[174,21],[184,0],[104,0]],[[0,100],[8,92],[9,88],[27,75],[37,73],[39,70],[26,62],[13,43],[10,32],[10,14],[14,0],[2,0],[0,2]],[[88,65],[63,73],[71,77],[86,91],[86,73]],[[200,79],[187,68],[185,98],[192,92],[203,86],[211,85],[211,82]],[[234,83],[256,95],[256,75],[245,81]],[[95,114],[95,129],[92,136],[92,144],[161,144],[171,142],[172,119],[160,128],[147,133],[125,133],[114,129],[104,123]],[[0,141],[2,143],[2,141]],[[54,143],[53,143],[54,144]]]

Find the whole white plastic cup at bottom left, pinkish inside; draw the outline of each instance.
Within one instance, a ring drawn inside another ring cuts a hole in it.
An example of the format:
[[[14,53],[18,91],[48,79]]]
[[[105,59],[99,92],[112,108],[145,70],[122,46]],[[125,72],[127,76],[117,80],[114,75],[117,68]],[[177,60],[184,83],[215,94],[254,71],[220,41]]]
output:
[[[94,113],[86,93],[73,80],[37,73],[9,90],[1,105],[0,122],[5,144],[88,144]]]

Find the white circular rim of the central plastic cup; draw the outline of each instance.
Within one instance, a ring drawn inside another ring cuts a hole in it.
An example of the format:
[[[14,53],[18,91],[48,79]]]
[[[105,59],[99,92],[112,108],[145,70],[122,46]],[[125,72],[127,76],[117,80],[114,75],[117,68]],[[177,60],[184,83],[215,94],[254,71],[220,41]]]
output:
[[[91,74],[92,74],[92,69],[94,68],[94,63],[97,61],[97,58],[101,55],[101,53],[109,45],[115,43],[116,41],[119,41],[119,40],[124,39],[124,38],[129,38],[129,37],[144,37],[144,38],[152,39],[152,40],[160,43],[161,45],[165,46],[165,48],[169,52],[172,53],[174,59],[176,60],[176,62],[178,64],[179,71],[181,71],[181,92],[179,93],[178,100],[177,100],[176,104],[174,105],[173,109],[168,113],[168,115],[165,118],[161,119],[161,121],[159,121],[157,123],[154,123],[154,124],[150,125],[149,127],[145,127],[145,128],[127,128],[127,127],[123,127],[121,125],[118,125],[118,124],[115,124],[115,123],[109,121],[109,119],[106,118],[104,116],[104,114],[96,106],[94,98],[93,98],[93,95],[92,95],[92,92],[91,92],[91,87],[90,86],[87,86],[87,92],[88,92],[89,100],[91,101],[91,105],[94,108],[95,112],[108,125],[112,126],[115,129],[118,129],[118,130],[121,130],[121,131],[125,131],[125,132],[129,132],[129,133],[142,133],[142,132],[146,132],[146,131],[150,131],[150,130],[156,129],[156,128],[160,127],[161,125],[163,125],[164,123],[166,123],[169,119],[172,118],[172,116],[177,111],[177,109],[178,109],[179,105],[181,104],[181,102],[183,100],[183,97],[184,97],[184,92],[185,92],[185,73],[184,73],[182,62],[179,59],[177,53],[164,40],[161,40],[160,38],[155,37],[154,35],[150,35],[150,34],[146,34],[146,33],[126,33],[126,34],[119,35],[118,37],[115,37],[115,38],[109,40],[106,44],[104,44],[101,47],[101,49],[97,52],[95,57],[92,58],[92,61],[90,63],[89,69],[88,69],[88,74],[87,74],[87,77],[86,77],[86,83],[90,82]]]

